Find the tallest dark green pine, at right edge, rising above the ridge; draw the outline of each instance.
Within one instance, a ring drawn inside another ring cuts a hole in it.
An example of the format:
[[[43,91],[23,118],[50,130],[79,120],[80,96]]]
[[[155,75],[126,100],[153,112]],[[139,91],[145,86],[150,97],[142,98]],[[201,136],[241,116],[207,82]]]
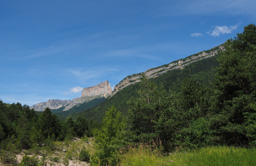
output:
[[[224,43],[219,52],[220,67],[215,74],[212,105],[212,129],[225,138],[245,136],[244,113],[255,113],[250,106],[256,101],[256,27],[244,27],[235,40]],[[247,114],[245,114],[247,115]]]

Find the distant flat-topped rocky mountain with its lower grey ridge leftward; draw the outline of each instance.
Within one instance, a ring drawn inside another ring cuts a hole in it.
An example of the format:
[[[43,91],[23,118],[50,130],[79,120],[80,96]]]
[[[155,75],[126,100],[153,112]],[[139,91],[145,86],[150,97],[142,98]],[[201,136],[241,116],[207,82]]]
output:
[[[29,108],[30,109],[33,108],[35,111],[44,111],[46,107],[55,111],[58,110],[59,112],[67,111],[74,106],[78,107],[79,105],[83,103],[87,103],[91,100],[94,100],[97,98],[103,98],[103,97],[106,98],[110,94],[111,94],[111,87],[109,85],[109,82],[106,80],[98,85],[84,88],[82,90],[81,97],[74,98],[73,100],[56,100],[56,99],[48,100],[47,102],[42,102],[42,103],[38,103],[33,106],[30,106]]]

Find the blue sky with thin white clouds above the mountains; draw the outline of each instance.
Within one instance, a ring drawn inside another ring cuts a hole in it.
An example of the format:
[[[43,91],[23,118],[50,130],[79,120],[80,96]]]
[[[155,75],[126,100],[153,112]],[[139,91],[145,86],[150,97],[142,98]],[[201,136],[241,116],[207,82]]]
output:
[[[105,80],[222,44],[256,22],[255,0],[2,1],[0,99],[71,100]]]

